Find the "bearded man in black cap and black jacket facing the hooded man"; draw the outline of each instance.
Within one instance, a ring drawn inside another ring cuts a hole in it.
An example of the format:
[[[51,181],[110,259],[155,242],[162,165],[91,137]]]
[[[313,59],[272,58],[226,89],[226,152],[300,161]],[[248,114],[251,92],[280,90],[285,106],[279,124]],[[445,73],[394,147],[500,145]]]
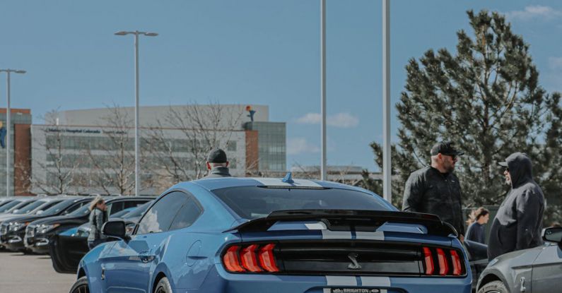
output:
[[[412,172],[404,189],[402,210],[405,212],[430,213],[450,223],[464,240],[462,202],[459,179],[455,170],[458,156],[453,143],[436,143],[431,148],[431,166]]]

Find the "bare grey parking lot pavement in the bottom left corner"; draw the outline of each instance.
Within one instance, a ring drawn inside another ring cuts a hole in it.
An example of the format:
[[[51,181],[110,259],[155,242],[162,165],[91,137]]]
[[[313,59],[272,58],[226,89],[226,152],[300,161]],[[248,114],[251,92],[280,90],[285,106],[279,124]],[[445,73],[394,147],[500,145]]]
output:
[[[55,272],[49,256],[0,251],[0,293],[66,293],[75,280]]]

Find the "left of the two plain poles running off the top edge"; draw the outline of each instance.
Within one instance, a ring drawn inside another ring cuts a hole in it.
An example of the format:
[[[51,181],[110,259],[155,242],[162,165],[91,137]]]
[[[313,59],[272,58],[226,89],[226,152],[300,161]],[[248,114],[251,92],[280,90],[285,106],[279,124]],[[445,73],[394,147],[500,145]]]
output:
[[[322,102],[320,112],[322,122],[320,124],[321,144],[322,144],[322,162],[320,162],[320,179],[327,180],[326,169],[326,0],[320,0],[320,95]]]

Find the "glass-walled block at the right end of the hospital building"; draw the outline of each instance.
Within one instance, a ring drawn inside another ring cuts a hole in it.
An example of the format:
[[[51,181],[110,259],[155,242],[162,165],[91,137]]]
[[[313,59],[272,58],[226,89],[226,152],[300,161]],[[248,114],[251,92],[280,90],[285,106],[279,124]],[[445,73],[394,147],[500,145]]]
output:
[[[257,131],[259,170],[285,172],[287,169],[285,122],[247,122],[245,128]]]

